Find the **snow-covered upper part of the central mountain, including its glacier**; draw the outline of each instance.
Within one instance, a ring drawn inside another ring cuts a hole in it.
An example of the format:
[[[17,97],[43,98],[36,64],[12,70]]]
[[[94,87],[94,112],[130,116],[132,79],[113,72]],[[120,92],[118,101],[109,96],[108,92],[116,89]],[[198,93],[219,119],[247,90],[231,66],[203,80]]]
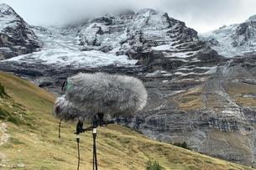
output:
[[[42,49],[8,61],[96,68],[154,65],[161,56],[165,64],[173,64],[196,60],[197,54],[209,50],[194,29],[153,9],[107,14],[72,27],[32,29]]]

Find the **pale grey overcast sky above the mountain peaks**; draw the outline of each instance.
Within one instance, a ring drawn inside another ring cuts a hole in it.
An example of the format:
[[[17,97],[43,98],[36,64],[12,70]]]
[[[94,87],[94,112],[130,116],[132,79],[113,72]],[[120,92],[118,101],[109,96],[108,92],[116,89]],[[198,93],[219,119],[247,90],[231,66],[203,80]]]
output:
[[[121,8],[154,8],[185,21],[199,33],[224,24],[242,23],[256,14],[256,0],[0,0],[10,5],[26,22],[54,25]]]

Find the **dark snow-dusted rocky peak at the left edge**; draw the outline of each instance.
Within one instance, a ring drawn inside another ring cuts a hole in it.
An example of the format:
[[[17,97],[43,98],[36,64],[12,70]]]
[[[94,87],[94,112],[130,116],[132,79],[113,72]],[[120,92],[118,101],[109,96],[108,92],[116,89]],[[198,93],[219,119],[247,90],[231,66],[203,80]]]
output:
[[[24,19],[7,4],[0,4],[0,60],[32,53],[40,46]]]

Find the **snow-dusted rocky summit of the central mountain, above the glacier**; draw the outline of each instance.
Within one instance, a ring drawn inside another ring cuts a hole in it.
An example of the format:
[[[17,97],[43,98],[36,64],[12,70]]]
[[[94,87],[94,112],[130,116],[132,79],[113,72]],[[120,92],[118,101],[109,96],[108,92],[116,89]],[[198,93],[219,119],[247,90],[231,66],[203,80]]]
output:
[[[197,33],[167,13],[142,9],[93,18],[81,26],[79,40],[85,50],[112,51],[136,58],[145,50],[165,50],[180,56],[185,43],[197,43]],[[189,51],[189,49],[187,49]],[[176,54],[177,53],[177,54]],[[184,58],[192,54],[182,55]],[[169,57],[170,57],[169,56]]]

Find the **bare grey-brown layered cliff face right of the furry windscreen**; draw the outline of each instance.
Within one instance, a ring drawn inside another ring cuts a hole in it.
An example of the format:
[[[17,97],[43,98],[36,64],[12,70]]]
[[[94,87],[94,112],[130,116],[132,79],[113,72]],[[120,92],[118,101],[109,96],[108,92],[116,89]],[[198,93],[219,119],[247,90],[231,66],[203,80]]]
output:
[[[156,140],[187,142],[198,152],[255,167],[255,59],[234,58],[189,79],[144,80],[149,106],[128,124]]]

